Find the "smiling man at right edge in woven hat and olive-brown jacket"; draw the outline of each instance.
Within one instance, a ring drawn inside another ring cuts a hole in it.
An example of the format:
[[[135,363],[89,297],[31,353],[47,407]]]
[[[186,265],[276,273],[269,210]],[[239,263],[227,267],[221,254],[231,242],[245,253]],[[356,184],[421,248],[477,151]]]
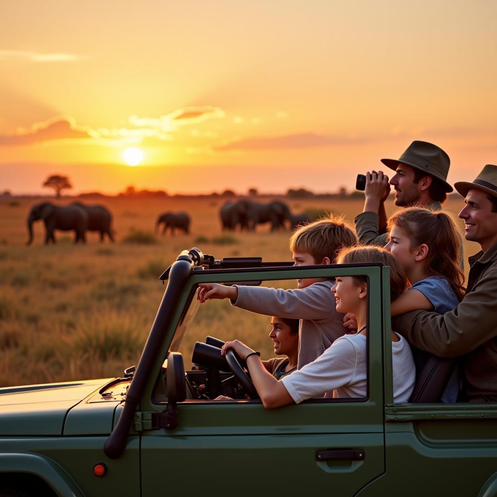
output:
[[[444,315],[414,311],[394,318],[395,330],[440,357],[463,357],[462,401],[497,402],[497,166],[488,164],[472,182],[455,183],[466,204],[466,240],[480,244],[469,257],[466,295]]]

